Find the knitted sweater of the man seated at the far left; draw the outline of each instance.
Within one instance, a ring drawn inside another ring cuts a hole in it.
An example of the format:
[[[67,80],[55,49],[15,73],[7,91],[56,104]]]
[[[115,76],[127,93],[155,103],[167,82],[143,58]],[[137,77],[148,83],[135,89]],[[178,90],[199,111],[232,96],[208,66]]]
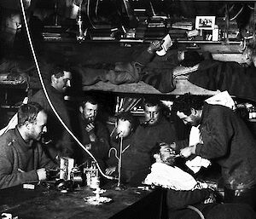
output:
[[[17,129],[0,137],[0,147],[0,188],[38,181],[36,170],[56,167],[38,141],[26,143]]]

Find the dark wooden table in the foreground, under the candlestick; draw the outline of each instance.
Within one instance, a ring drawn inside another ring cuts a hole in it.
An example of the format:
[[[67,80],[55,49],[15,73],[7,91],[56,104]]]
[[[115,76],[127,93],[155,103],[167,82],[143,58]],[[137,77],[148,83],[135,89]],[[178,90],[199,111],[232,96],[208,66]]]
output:
[[[161,190],[143,191],[129,187],[123,191],[107,189],[108,204],[89,205],[85,197],[94,195],[88,187],[61,193],[54,188],[37,186],[34,190],[22,186],[0,190],[0,215],[11,213],[19,219],[93,218],[93,219],[154,219],[162,218]]]

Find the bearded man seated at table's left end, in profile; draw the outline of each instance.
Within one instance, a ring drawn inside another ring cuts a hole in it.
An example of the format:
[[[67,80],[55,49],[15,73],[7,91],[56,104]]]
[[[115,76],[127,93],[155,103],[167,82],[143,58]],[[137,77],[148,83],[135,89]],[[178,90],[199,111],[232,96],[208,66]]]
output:
[[[47,169],[57,167],[40,144],[47,115],[38,104],[22,105],[18,124],[0,137],[0,188],[47,179]]]

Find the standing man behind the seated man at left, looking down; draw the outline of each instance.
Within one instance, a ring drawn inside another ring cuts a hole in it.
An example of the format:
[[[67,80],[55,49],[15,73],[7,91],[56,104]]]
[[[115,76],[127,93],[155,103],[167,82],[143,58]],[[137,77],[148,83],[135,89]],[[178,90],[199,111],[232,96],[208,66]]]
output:
[[[66,89],[71,86],[71,72],[67,71],[67,69],[62,66],[53,66],[49,69],[49,74],[49,81],[45,81],[45,87],[49,95],[49,99],[64,124],[66,124],[71,130],[70,116],[64,101],[64,93]],[[30,101],[38,102],[42,107],[44,107],[44,110],[49,117],[47,122],[48,133],[45,135],[45,139],[47,139],[45,152],[49,158],[56,162],[61,156],[73,158],[74,144],[71,136],[68,134],[67,130],[65,130],[60,120],[56,117],[55,112],[49,106],[49,101],[44,95],[44,90],[40,89],[32,96]]]

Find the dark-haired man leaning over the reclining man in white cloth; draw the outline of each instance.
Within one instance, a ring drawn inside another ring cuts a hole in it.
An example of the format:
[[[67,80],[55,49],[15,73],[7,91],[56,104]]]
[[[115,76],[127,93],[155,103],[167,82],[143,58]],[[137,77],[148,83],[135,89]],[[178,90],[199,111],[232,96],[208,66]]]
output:
[[[188,147],[188,141],[177,141],[171,147],[185,158],[196,154],[215,161],[222,169],[224,202],[256,210],[256,141],[240,116],[190,94],[178,97],[172,109],[184,124],[200,125],[202,142]]]

